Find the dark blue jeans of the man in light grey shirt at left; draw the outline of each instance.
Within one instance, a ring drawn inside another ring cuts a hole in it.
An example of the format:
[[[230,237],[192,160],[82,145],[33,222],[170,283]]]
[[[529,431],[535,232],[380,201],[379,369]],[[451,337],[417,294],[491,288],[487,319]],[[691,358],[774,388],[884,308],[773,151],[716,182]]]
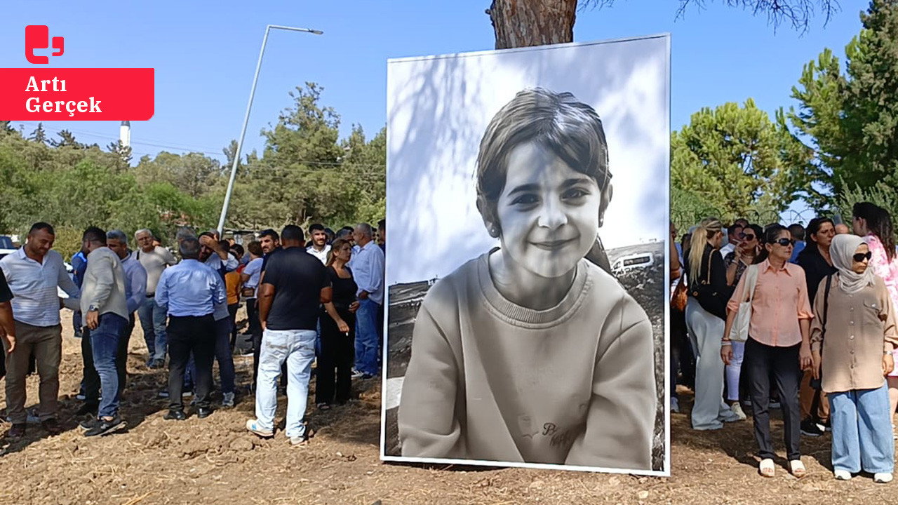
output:
[[[100,400],[99,417],[115,417],[119,413],[119,369],[116,368],[116,356],[119,350],[119,338],[128,326],[128,320],[116,314],[103,314],[100,324],[91,330],[91,350],[93,368],[100,376],[102,398]]]

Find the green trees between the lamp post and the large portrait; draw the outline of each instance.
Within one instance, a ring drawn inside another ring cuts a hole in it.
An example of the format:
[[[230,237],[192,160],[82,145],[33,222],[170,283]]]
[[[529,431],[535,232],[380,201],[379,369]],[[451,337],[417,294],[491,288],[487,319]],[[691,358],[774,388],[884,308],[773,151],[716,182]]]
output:
[[[368,141],[355,127],[339,141],[339,115],[321,106],[322,91],[313,83],[297,87],[277,125],[263,130],[265,152],[247,156],[238,172],[228,226],[335,227],[383,218],[386,129]],[[233,163],[234,151],[226,151]]]

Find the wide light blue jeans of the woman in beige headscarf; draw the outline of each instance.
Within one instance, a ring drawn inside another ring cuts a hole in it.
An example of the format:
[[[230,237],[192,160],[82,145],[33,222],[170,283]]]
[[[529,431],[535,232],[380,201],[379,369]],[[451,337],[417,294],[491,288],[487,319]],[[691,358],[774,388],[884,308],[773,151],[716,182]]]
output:
[[[832,422],[832,468],[857,474],[891,474],[894,440],[889,391],[855,389],[828,394]]]

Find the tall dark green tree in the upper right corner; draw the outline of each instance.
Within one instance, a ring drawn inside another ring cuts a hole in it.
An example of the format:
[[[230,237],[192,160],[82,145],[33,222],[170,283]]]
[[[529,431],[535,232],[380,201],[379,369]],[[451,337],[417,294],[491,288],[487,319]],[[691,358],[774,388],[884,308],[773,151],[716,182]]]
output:
[[[824,49],[804,68],[789,120],[814,146],[818,209],[850,191],[898,183],[898,4],[874,0],[861,13],[863,30],[850,41],[844,75]]]

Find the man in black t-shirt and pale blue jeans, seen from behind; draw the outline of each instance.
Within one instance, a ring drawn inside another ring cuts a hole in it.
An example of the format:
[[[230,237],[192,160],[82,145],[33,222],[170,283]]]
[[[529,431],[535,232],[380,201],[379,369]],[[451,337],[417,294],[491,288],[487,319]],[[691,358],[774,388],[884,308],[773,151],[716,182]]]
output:
[[[303,230],[286,226],[284,249],[271,256],[259,287],[259,319],[264,336],[256,385],[256,419],[246,429],[260,437],[274,435],[277,376],[287,364],[286,436],[294,445],[306,441],[305,414],[309,378],[315,359],[318,307],[330,302],[330,278],[324,265],[304,248]]]

